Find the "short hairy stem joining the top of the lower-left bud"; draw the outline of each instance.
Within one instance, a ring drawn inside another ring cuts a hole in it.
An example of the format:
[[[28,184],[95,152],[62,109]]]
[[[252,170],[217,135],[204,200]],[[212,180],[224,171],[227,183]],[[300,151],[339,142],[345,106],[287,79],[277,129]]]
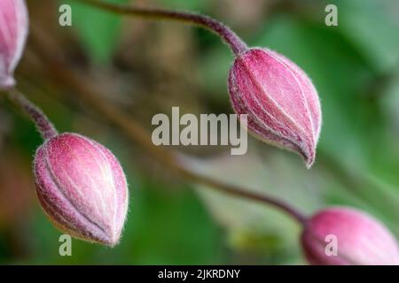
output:
[[[44,140],[50,139],[58,134],[47,116],[34,103],[30,102],[26,96],[21,94],[16,88],[8,91],[8,96],[13,103],[17,104],[22,111],[35,123],[37,131],[42,134]]]

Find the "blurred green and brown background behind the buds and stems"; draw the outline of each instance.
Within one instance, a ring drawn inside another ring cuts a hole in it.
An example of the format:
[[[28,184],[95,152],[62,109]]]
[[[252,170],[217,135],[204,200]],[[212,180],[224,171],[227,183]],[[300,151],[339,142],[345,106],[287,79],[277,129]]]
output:
[[[111,0],[110,0],[111,1]],[[77,1],[78,2],[78,1]],[[129,1],[116,1],[128,3]],[[252,46],[285,54],[314,81],[324,126],[317,162],[254,141],[178,149],[200,173],[276,196],[304,213],[350,205],[372,213],[399,237],[399,2],[395,0],[136,0],[201,11]],[[114,249],[73,241],[59,256],[59,231],[43,215],[31,172],[39,134],[0,100],[1,264],[306,264],[300,227],[278,210],[215,193],[177,176],[82,101],[68,69],[98,96],[151,133],[156,113],[231,113],[226,78],[233,60],[214,34],[179,23],[121,18],[72,1],[27,1],[32,32],[17,72],[20,90],[60,131],[102,142],[121,158],[130,211]],[[59,27],[59,4],[73,27]],[[339,26],[325,26],[325,5]],[[49,41],[49,42],[46,42]],[[49,44],[47,44],[49,43]],[[43,56],[45,55],[45,56]],[[66,65],[49,62],[66,57]]]

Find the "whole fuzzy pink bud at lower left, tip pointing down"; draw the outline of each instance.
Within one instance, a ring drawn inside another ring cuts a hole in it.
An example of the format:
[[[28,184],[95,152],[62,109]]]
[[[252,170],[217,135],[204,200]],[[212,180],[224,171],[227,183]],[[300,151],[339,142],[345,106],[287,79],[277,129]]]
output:
[[[78,134],[59,134],[35,155],[37,195],[51,222],[76,238],[114,246],[128,210],[128,185],[113,154]]]

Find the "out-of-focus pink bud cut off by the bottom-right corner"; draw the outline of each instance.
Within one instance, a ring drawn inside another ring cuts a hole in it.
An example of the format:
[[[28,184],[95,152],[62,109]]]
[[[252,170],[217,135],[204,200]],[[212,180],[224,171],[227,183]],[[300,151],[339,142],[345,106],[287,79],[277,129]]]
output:
[[[395,237],[377,219],[359,210],[319,211],[309,219],[301,242],[310,264],[399,264]]]

